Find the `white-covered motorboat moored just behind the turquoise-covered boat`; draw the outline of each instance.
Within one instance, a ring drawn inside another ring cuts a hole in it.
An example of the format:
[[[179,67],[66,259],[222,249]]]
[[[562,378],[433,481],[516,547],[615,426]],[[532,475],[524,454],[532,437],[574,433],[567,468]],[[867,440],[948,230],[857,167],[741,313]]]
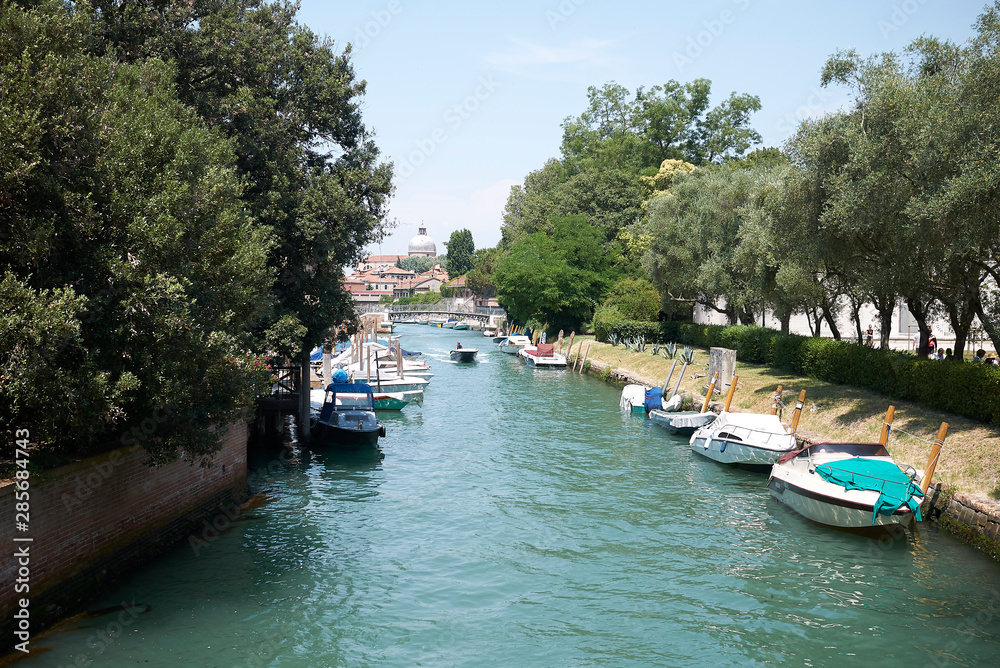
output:
[[[722,464],[768,471],[781,455],[795,450],[795,435],[777,415],[722,412],[691,435],[691,449]]]

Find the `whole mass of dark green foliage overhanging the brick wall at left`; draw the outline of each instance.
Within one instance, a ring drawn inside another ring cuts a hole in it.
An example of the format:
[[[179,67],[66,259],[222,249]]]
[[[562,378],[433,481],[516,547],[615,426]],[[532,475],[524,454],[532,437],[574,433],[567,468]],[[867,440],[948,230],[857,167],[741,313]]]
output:
[[[353,316],[391,189],[363,92],[290,4],[0,4],[0,432],[214,452],[261,355]]]

